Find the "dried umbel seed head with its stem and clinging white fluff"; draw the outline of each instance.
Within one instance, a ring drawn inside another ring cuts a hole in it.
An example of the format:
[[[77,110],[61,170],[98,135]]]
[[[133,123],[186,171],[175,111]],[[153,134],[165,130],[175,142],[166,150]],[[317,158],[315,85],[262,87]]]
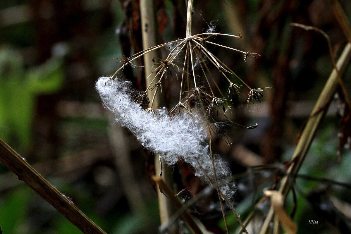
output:
[[[240,51],[210,41],[211,38],[218,35],[242,38],[240,35],[215,33],[212,25],[206,33],[191,35],[192,4],[193,1],[190,0],[188,2],[187,35],[185,38],[145,49],[129,58],[126,56],[119,58],[123,63],[122,66],[111,78],[100,78],[96,87],[104,101],[105,107],[114,112],[116,120],[137,135],[146,148],[161,154],[161,157],[170,165],[178,160],[185,160],[190,163],[194,167],[196,174],[205,180],[207,178],[208,182],[217,188],[219,196],[229,203],[228,205],[232,208],[231,203],[235,186],[232,182],[226,180],[231,173],[226,163],[220,160],[219,155],[213,154],[211,146],[212,133],[218,134],[225,124],[217,123],[212,118],[211,113],[217,113],[217,115],[220,113],[228,122],[234,123],[225,114],[227,109],[231,108],[229,100],[225,97],[230,97],[233,92],[240,93],[239,84],[231,81],[233,76],[249,89],[247,104],[260,101],[266,88],[250,88],[225,63],[207,49],[207,45],[210,44],[237,51],[243,53],[245,61],[247,58],[258,55],[257,53]],[[128,90],[130,89],[129,83],[115,78],[124,67],[136,67],[133,65],[134,60],[162,47],[166,47],[170,53],[165,59],[153,59],[152,72],[147,74],[147,79],[152,79],[152,81],[149,82],[150,85],[144,92]],[[208,68],[208,64],[211,63],[217,68],[219,74],[229,82],[229,89],[226,94],[223,94],[220,90]],[[202,72],[202,78],[207,83],[210,92],[205,91],[205,88],[197,82],[195,68],[199,68]],[[177,78],[177,72],[181,73],[179,102],[169,113],[165,109],[155,111],[153,109],[155,96],[162,92],[162,82],[166,79],[168,73],[172,71],[176,73]],[[210,80],[212,80],[221,94],[220,98],[214,95]],[[147,95],[147,91],[150,90],[154,91],[151,101]],[[135,96],[134,99],[131,98],[133,95]],[[195,101],[198,104],[199,108],[197,110],[191,108],[191,101]],[[144,105],[149,107],[143,110],[142,106]],[[170,115],[170,113],[174,114]],[[202,118],[199,113],[203,115]],[[210,123],[210,120],[213,120],[213,123]],[[252,129],[256,126],[248,128]],[[207,142],[206,139],[209,139],[209,141]],[[228,140],[226,141],[231,145]],[[223,204],[221,199],[219,200],[225,219]],[[235,213],[233,208],[232,210]],[[238,216],[237,219],[241,223]]]

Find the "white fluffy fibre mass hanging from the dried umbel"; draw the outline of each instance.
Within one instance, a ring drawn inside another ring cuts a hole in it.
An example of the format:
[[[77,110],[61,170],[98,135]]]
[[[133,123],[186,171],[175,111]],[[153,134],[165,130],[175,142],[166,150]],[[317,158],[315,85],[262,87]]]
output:
[[[115,120],[127,127],[141,144],[161,155],[169,165],[178,160],[190,163],[195,174],[205,179],[201,166],[214,181],[214,173],[208,142],[206,123],[198,114],[179,113],[168,115],[166,108],[158,109],[156,114],[146,112],[132,96],[135,92],[128,81],[101,77],[95,84],[104,107],[115,114]],[[225,182],[230,176],[227,163],[219,155],[214,155],[216,173],[222,192],[231,200],[234,186]]]

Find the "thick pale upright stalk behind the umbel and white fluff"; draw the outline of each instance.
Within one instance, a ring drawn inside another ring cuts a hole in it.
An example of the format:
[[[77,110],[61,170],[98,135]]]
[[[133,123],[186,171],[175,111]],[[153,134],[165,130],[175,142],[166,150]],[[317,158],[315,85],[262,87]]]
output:
[[[157,37],[157,18],[156,18],[156,8],[155,0],[140,0],[140,17],[141,17],[141,30],[143,35],[143,49],[152,48],[157,46],[158,37]],[[154,49],[148,53],[144,54],[144,64],[145,64],[145,79],[146,87],[151,87],[155,79],[154,73],[152,73],[153,58],[156,58],[158,50]],[[152,77],[153,76],[153,77]],[[147,95],[149,97],[153,96],[150,108],[154,105],[155,107],[161,104],[160,95],[156,95],[158,87],[155,91],[147,89]],[[173,187],[173,175],[172,168],[166,163],[162,162],[159,154],[154,156],[155,162],[155,174],[159,175],[162,171],[162,178],[169,187]],[[164,225],[168,222],[170,217],[175,212],[174,207],[169,198],[167,198],[160,189],[157,189],[158,203],[159,203],[159,213],[161,225]],[[172,229],[172,232],[176,233],[176,227]]]

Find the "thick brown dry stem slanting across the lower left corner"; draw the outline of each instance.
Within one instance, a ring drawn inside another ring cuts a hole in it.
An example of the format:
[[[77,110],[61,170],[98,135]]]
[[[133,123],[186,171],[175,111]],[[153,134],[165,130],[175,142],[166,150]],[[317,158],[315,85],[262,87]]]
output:
[[[2,139],[0,139],[0,161],[83,233],[106,234]]]

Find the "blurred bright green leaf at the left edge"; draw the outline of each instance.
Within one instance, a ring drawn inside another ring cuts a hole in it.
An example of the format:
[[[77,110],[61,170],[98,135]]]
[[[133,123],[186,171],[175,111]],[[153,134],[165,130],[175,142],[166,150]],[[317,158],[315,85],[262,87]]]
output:
[[[0,47],[0,137],[23,152],[32,143],[36,97],[59,90],[64,81],[62,58],[25,68],[22,55]]]

